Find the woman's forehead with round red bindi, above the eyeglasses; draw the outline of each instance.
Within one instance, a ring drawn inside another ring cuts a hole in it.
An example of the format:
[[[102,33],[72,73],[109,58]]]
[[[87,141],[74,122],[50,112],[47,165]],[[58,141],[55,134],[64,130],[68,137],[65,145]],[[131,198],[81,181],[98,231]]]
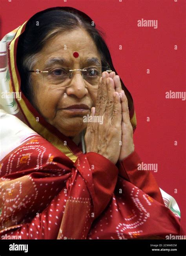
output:
[[[46,65],[54,62],[85,62],[91,64],[100,63],[100,54],[97,46],[88,35],[84,37],[86,31],[80,29],[77,31],[69,31],[58,33],[54,38],[48,40],[40,51],[40,59],[46,62]],[[88,33],[87,33],[88,34]]]

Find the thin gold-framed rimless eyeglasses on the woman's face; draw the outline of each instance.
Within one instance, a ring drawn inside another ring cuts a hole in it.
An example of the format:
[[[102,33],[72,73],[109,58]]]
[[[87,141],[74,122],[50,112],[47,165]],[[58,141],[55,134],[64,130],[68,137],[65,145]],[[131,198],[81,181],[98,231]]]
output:
[[[99,79],[102,76],[102,72],[111,72],[109,65],[103,67],[91,66],[83,69],[71,69],[67,67],[55,67],[46,68],[44,70],[29,70],[28,72],[35,72],[37,74],[43,75],[44,84],[47,86],[66,86],[67,82],[73,77],[74,71],[80,71],[82,78],[86,80],[91,85],[98,85]]]

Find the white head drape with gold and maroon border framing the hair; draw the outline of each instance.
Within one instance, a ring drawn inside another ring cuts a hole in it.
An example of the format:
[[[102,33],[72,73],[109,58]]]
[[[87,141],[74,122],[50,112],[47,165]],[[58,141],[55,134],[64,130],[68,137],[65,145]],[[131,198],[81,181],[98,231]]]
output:
[[[92,22],[92,19],[88,15],[72,7],[49,8],[39,13],[36,13],[31,19],[37,18],[41,13],[50,10],[64,10],[68,12],[75,11],[85,20]],[[5,37],[2,38],[0,42],[0,93],[6,93],[7,95],[9,95],[9,93],[13,92],[16,95],[15,99],[8,99],[8,97],[4,97],[4,99],[1,99],[0,108],[5,110],[5,112],[18,117],[31,129],[33,129],[35,132],[47,139],[47,141],[52,143],[61,152],[65,153],[72,161],[75,161],[80,152],[77,152],[77,149],[75,151],[72,151],[72,149],[70,149],[73,148],[73,141],[60,133],[54,126],[47,123],[47,121],[40,115],[40,113],[36,111],[36,109],[31,105],[31,103],[25,97],[24,93],[21,91],[20,74],[16,65],[16,51],[18,39],[20,35],[27,29],[27,22],[28,21],[24,22],[22,26],[19,26],[15,30],[5,35]],[[106,55],[107,59],[110,59],[111,61],[111,56],[108,48],[106,49]],[[113,64],[111,68],[113,71],[115,71]],[[130,121],[134,131],[136,128],[136,116],[133,99],[127,88],[124,86],[123,82],[122,87],[128,98]],[[66,141],[67,143],[64,143],[64,141]],[[67,144],[69,147],[64,144]]]

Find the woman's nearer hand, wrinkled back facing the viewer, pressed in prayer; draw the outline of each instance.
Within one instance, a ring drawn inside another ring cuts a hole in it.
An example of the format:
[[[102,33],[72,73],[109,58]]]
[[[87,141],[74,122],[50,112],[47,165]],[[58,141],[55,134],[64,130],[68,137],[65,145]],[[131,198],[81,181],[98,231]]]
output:
[[[116,164],[121,150],[122,104],[119,92],[115,90],[115,82],[106,71],[100,78],[97,102],[91,110],[91,115],[103,117],[103,124],[88,123],[85,134],[86,151],[103,155]]]

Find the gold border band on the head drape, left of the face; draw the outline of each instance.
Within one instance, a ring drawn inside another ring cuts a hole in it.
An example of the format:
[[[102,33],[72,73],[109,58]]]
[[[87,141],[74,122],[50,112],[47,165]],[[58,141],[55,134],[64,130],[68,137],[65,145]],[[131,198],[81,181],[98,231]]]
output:
[[[15,40],[20,36],[20,34],[22,32],[22,28],[24,27],[26,22],[24,22],[24,24],[22,26],[20,26],[20,28],[18,29],[18,31],[17,31],[17,33],[15,35],[15,38],[10,43],[10,46],[11,46],[10,47],[10,64],[11,65],[10,66],[11,66],[13,83],[15,85],[15,91],[16,92],[19,91],[19,83],[18,83],[16,71],[15,71],[15,66],[14,66],[15,65],[14,51],[16,50],[16,49],[14,49],[15,48]],[[67,146],[63,145],[64,142],[62,140],[60,140],[53,133],[49,132],[44,126],[42,126],[42,124],[40,124],[39,122],[36,121],[35,116],[27,108],[26,103],[24,102],[23,99],[21,99],[19,101],[19,104],[20,104],[22,110],[24,111],[24,114],[26,115],[29,123],[31,124],[31,127],[32,128],[34,127],[34,130],[37,133],[42,135],[42,137],[44,137],[45,139],[47,139],[47,141],[52,143],[56,148],[58,148],[58,150],[63,152],[67,157],[69,157],[69,159],[71,159],[71,161],[75,162],[77,160],[77,156],[74,155],[73,152],[71,152],[71,150]]]

